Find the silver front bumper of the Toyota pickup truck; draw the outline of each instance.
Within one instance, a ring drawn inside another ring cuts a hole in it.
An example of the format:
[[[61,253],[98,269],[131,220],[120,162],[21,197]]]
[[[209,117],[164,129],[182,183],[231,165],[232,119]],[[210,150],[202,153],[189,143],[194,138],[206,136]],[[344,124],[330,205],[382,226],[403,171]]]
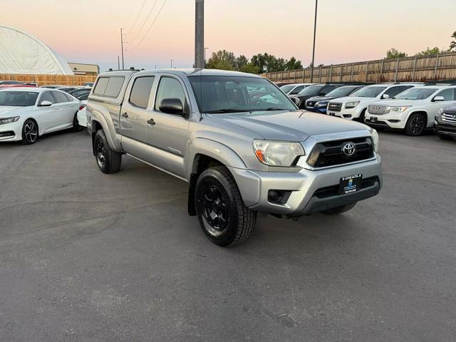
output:
[[[381,159],[375,155],[351,165],[299,172],[261,172],[229,167],[241,192],[244,204],[259,212],[282,214],[290,217],[321,212],[333,207],[373,197],[383,185]],[[358,192],[338,195],[336,189],[342,177],[361,173],[366,187]],[[368,182],[367,182],[368,181]],[[283,204],[269,202],[269,190],[289,191]]]

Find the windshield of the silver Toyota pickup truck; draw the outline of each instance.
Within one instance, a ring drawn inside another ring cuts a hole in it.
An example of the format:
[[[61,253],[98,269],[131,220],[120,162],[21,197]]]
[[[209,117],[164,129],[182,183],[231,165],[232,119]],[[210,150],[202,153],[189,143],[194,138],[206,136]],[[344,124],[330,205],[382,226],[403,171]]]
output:
[[[190,76],[201,113],[296,110],[284,93],[264,78]]]

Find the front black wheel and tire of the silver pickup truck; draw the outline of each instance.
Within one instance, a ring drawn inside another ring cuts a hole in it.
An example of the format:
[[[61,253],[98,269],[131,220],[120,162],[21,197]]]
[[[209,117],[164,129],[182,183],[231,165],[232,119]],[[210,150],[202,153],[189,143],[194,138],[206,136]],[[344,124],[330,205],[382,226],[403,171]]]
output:
[[[195,203],[199,224],[214,244],[240,244],[254,231],[257,212],[245,206],[234,178],[224,166],[199,175]]]

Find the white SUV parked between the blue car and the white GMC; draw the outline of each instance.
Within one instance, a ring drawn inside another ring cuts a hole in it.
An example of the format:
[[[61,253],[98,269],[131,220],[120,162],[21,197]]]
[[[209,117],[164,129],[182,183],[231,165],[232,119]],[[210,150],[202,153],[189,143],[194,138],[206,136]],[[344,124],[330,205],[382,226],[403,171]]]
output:
[[[402,93],[404,90],[422,84],[375,84],[373,86],[366,86],[352,93],[345,98],[337,98],[328,103],[328,115],[340,116],[348,120],[358,120],[363,123],[364,115],[368,105],[378,100],[393,98],[395,95]]]

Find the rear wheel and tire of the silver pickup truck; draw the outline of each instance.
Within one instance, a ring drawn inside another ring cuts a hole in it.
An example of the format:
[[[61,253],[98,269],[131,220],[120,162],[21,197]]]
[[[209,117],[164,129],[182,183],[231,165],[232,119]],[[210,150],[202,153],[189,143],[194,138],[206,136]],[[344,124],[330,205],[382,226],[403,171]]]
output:
[[[120,165],[122,164],[122,154],[115,152],[115,150],[109,146],[103,130],[97,131],[93,144],[95,160],[100,171],[103,173],[118,172],[118,170],[120,170]]]

